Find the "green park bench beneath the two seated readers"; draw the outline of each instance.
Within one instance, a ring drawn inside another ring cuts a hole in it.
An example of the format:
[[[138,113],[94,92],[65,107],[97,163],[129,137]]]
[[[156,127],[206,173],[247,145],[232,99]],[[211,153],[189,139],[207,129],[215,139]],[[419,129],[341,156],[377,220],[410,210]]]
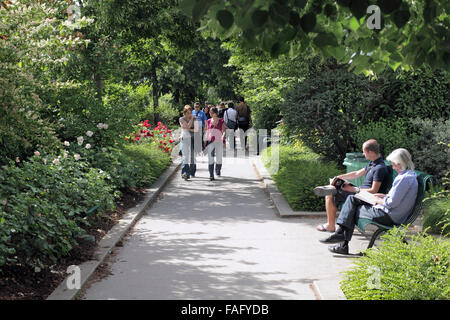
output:
[[[392,179],[390,180],[391,181],[390,187],[392,187],[392,182],[394,181],[394,178],[396,175],[393,174],[392,167],[391,166],[389,166],[389,167],[391,168],[390,172],[392,173]],[[432,175],[429,175],[425,172],[421,172],[421,171],[417,171],[417,170],[414,170],[414,171],[416,172],[417,182],[418,182],[417,198],[416,198],[416,202],[414,203],[414,207],[411,210],[411,213],[409,214],[408,218],[406,219],[406,221],[403,224],[400,225],[402,227],[406,227],[407,225],[413,223],[417,219],[417,217],[420,215],[420,212],[422,211],[422,202],[425,197],[425,191],[427,189],[427,183],[428,182],[431,183],[433,180]],[[361,233],[363,233],[365,235],[365,228],[369,224],[377,226],[378,229],[372,234],[372,237],[370,239],[369,245],[367,246],[367,249],[373,247],[375,240],[379,236],[381,236],[382,233],[384,233],[394,227],[394,226],[386,226],[386,225],[377,223],[371,219],[366,219],[366,218],[358,219],[357,227],[361,231]]]

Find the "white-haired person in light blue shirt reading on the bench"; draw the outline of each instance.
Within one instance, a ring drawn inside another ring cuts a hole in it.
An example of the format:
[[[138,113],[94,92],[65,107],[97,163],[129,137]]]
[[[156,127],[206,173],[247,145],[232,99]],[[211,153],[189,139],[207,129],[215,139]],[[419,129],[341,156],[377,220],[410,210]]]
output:
[[[387,157],[398,175],[388,194],[374,194],[375,204],[371,205],[350,195],[342,207],[337,219],[338,229],[322,243],[338,243],[328,249],[333,253],[348,254],[355,225],[360,218],[371,219],[387,226],[400,225],[406,221],[417,197],[418,183],[414,172],[414,163],[408,150],[400,148]]]

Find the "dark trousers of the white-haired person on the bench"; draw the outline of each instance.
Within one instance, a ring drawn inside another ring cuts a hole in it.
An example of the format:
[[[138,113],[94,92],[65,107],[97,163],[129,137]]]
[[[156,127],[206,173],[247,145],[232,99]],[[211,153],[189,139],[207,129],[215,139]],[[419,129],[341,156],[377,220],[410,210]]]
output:
[[[355,198],[354,195],[349,195],[336,221],[344,229],[346,241],[352,239],[353,231],[359,218],[371,219],[387,226],[394,225],[392,219],[383,210],[374,208],[372,205]]]

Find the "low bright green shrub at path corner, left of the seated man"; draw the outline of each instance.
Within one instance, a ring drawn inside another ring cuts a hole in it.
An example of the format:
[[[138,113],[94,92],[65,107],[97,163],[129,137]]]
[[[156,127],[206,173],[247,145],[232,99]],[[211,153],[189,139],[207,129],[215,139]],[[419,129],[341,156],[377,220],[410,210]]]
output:
[[[268,153],[262,153],[266,166],[270,166]],[[323,198],[313,193],[314,187],[328,184],[329,178],[340,174],[334,163],[323,162],[322,158],[307,147],[279,146],[279,170],[272,178],[293,210],[323,211]]]

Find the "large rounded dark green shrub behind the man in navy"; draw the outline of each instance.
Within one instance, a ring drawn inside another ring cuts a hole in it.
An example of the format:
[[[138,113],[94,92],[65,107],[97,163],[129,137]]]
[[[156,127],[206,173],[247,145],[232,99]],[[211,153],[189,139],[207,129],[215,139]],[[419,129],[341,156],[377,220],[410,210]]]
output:
[[[366,77],[334,67],[295,85],[281,113],[289,132],[300,134],[314,152],[341,163],[347,150],[356,147],[351,132],[383,114],[383,97]]]

